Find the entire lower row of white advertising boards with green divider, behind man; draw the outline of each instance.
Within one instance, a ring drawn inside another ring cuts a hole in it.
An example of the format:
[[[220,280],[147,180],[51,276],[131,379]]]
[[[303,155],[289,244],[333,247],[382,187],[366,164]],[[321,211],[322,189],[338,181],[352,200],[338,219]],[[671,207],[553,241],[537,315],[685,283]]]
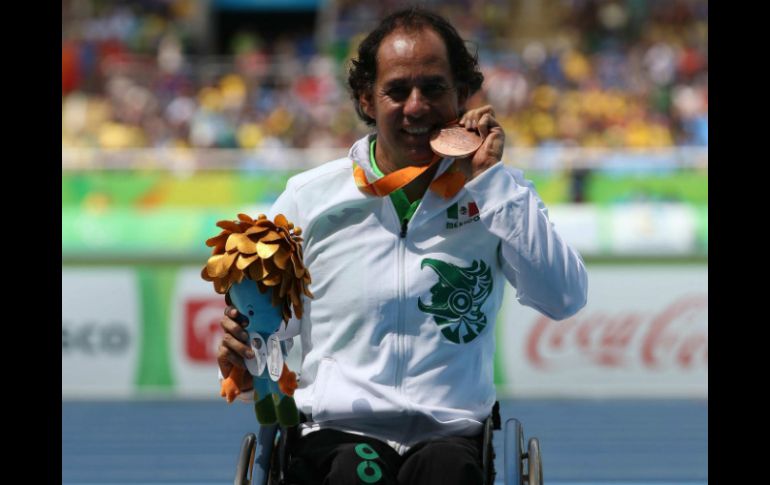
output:
[[[708,397],[706,265],[589,266],[588,304],[560,322],[506,291],[501,398]],[[62,268],[62,397],[219,399],[224,308],[198,266]]]

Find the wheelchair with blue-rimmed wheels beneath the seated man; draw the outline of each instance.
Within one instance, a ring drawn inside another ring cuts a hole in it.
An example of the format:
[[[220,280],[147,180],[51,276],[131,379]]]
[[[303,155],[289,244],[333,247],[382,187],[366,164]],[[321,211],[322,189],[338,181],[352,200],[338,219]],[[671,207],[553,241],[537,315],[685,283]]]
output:
[[[492,432],[501,429],[499,403],[495,403],[492,415],[484,420],[483,429],[484,485],[494,485],[495,450],[492,446]],[[524,427],[515,418],[505,421],[503,433],[503,483],[543,485],[543,464],[538,439],[530,438],[525,449]],[[277,424],[260,426],[256,435],[247,433],[241,442],[235,470],[235,485],[283,484],[291,446],[298,434],[297,427],[287,428]]]

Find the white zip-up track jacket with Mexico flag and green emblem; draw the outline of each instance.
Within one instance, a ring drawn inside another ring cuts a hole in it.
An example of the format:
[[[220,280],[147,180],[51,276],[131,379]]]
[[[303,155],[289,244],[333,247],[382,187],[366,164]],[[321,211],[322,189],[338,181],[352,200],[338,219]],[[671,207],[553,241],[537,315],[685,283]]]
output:
[[[404,228],[389,197],[354,182],[354,163],[376,179],[371,136],[348,158],[292,177],[270,216],[302,228],[315,295],[297,330],[295,399],[314,423],[303,432],[363,433],[403,453],[481,431],[496,399],[505,280],[521,304],[560,320],[585,305],[587,277],[531,183],[502,163],[451,199],[429,189]]]

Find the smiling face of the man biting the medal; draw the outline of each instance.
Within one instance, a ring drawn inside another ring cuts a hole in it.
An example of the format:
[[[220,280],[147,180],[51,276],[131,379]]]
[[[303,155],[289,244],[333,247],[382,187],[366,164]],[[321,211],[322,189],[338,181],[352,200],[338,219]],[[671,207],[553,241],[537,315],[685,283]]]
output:
[[[456,119],[466,95],[455,87],[446,45],[432,29],[396,29],[377,51],[377,79],[360,98],[377,123],[381,169],[427,163],[430,136]]]

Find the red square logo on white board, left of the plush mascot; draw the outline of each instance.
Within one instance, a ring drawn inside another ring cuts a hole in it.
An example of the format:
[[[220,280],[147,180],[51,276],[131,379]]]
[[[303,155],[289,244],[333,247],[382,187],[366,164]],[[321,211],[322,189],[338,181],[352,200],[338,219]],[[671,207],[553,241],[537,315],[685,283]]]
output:
[[[185,304],[185,353],[195,362],[214,363],[222,340],[220,322],[225,313],[224,298],[190,299]]]

